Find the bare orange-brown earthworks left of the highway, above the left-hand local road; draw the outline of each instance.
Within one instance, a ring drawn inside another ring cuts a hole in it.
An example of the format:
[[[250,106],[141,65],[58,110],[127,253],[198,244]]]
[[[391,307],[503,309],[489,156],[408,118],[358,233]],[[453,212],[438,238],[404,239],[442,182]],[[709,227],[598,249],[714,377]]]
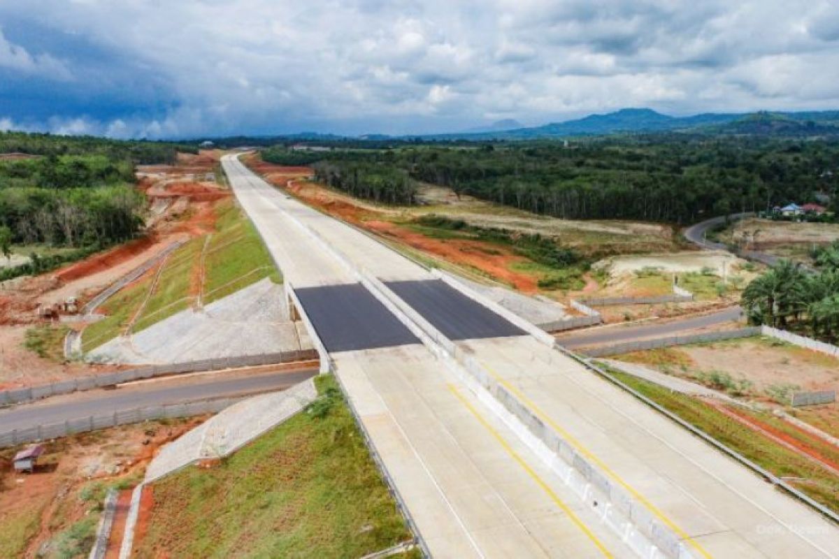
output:
[[[96,253],[84,260],[38,277],[19,277],[0,285],[0,390],[65,380],[114,370],[113,366],[66,363],[39,357],[23,342],[27,329],[50,321],[37,309],[77,298],[81,308],[120,277],[159,255],[176,241],[186,241],[215,230],[215,205],[232,194],[219,184],[195,182],[195,173],[212,173],[218,153],[181,154],[178,165],[144,166],[155,177],[141,177],[138,189],[157,210],[143,237]],[[150,212],[151,213],[151,212]],[[197,275],[197,271],[195,271]],[[197,282],[193,291],[197,290]],[[79,329],[82,323],[68,323]]]

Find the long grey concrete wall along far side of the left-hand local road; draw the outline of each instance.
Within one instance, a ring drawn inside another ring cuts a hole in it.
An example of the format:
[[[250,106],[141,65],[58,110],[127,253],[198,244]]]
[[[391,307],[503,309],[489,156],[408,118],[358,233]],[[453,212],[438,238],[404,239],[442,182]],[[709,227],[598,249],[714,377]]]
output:
[[[317,340],[320,342],[320,340]],[[87,391],[102,386],[114,386],[132,380],[151,379],[156,376],[180,375],[204,370],[225,370],[238,367],[257,367],[260,365],[275,365],[278,363],[293,363],[294,361],[313,360],[319,356],[315,349],[295,349],[272,354],[242,355],[239,357],[220,357],[173,365],[151,365],[138,369],[120,370],[105,375],[80,376],[70,380],[53,382],[49,385],[30,386],[9,391],[0,391],[0,407],[22,404],[30,401],[60,396],[76,391]],[[322,365],[321,365],[322,366]]]

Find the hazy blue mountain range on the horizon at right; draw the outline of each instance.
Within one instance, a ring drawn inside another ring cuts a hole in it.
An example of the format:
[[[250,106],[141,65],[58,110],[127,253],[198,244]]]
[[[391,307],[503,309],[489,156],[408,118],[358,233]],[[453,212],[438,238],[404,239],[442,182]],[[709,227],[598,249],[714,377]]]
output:
[[[676,131],[712,134],[833,136],[839,135],[839,111],[703,113],[694,116],[668,116],[652,109],[621,109],[604,115],[589,115],[571,121],[551,122],[539,127],[431,134],[422,138],[529,140]]]

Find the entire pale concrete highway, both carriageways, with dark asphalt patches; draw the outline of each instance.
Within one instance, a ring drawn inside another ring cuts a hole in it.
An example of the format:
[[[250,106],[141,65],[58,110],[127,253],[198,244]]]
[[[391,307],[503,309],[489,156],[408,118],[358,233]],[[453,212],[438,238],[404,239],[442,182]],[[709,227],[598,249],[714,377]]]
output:
[[[447,303],[451,294],[403,256],[290,199],[235,158],[222,164],[295,285],[349,290],[360,277],[383,282],[398,293],[399,308],[421,315],[422,321],[409,319],[414,327],[427,333],[430,323],[451,335],[458,355],[469,355],[482,375],[586,457],[603,484],[620,488],[651,521],[678,536],[687,556],[835,556],[839,531],[814,511],[500,317],[476,321],[473,313],[486,308]],[[491,401],[424,345],[367,346],[375,338],[367,331],[389,319],[372,308],[357,311],[376,322],[352,322],[357,334],[343,340],[346,350],[331,352],[335,373],[433,554],[632,553],[630,542],[545,467],[544,457],[523,443],[526,437]],[[327,308],[313,319],[327,348],[347,312],[355,310]],[[500,330],[486,329],[487,323]]]

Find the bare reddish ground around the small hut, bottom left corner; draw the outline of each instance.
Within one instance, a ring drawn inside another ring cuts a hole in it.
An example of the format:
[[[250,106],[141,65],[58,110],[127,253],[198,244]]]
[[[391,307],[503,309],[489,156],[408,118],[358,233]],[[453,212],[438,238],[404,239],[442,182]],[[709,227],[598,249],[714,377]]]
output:
[[[59,439],[34,474],[15,474],[0,451],[0,556],[86,557],[107,489],[143,476],[154,450],[201,419],[147,422]]]

